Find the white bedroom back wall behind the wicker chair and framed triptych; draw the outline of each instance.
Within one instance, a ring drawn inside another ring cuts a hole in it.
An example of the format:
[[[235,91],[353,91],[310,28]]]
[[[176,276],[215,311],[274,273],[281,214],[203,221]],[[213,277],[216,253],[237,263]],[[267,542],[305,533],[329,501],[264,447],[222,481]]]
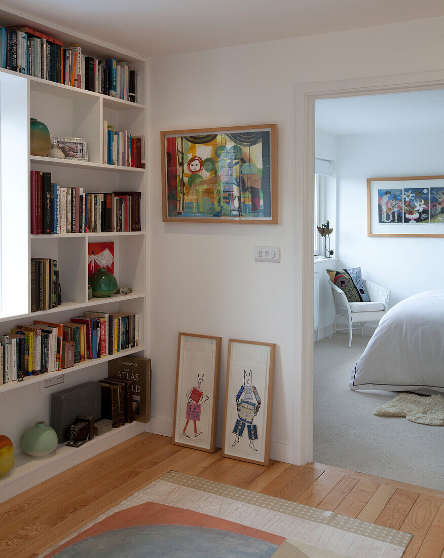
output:
[[[390,306],[418,292],[441,290],[442,238],[369,238],[366,179],[444,174],[444,132],[342,136],[337,163],[337,227],[344,267],[392,291]]]

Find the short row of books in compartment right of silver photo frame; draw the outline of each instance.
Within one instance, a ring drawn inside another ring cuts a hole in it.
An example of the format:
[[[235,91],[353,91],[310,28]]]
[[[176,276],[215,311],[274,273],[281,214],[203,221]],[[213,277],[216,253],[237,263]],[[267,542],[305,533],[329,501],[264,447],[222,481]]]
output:
[[[103,121],[103,163],[121,167],[145,168],[145,136],[132,136],[128,130],[117,131]]]

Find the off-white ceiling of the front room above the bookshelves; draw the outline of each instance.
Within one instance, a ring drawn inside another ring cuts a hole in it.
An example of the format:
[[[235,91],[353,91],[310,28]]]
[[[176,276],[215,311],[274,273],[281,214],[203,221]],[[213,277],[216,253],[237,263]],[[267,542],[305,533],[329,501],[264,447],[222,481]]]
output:
[[[7,0],[3,6],[147,57],[444,15],[442,0]]]

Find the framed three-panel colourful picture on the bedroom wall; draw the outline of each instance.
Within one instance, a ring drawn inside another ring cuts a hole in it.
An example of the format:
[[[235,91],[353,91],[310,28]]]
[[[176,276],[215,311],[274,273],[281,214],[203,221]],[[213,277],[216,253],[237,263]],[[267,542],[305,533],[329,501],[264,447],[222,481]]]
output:
[[[367,179],[369,237],[444,237],[444,176]]]

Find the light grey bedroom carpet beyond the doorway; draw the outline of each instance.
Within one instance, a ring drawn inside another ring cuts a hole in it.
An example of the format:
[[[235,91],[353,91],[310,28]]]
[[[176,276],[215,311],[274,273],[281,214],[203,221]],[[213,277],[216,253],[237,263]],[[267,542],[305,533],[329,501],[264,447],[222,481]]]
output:
[[[444,427],[372,413],[395,392],[351,391],[351,367],[369,338],[336,333],[314,344],[314,460],[444,490]]]

